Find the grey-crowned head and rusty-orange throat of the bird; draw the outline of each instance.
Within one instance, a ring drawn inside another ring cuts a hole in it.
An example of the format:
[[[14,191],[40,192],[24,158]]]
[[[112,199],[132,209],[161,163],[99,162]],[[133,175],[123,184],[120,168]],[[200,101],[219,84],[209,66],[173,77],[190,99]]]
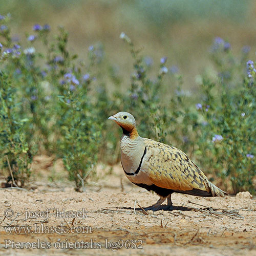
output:
[[[122,128],[123,134],[129,135],[133,139],[138,137],[136,121],[132,114],[118,112],[117,114],[110,116],[109,119],[115,121]]]

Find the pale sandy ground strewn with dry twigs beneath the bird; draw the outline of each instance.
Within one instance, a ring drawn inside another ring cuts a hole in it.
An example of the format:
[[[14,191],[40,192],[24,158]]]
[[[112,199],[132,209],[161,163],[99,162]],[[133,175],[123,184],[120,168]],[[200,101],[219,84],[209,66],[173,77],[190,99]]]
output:
[[[120,165],[110,175],[98,168],[101,178],[84,193],[50,183],[51,168],[38,158],[32,189],[0,189],[0,255],[256,255],[256,199],[248,192],[173,194],[172,211],[144,212],[158,196],[130,183]]]

